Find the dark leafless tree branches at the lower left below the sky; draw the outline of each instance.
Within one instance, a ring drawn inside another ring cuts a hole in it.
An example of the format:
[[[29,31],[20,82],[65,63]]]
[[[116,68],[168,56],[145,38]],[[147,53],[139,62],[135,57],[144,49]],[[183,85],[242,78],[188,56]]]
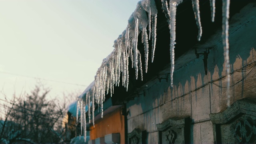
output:
[[[62,118],[66,104],[48,100],[48,89],[36,85],[34,90],[11,101],[2,100],[5,118],[0,121],[2,143],[59,143],[64,130]]]

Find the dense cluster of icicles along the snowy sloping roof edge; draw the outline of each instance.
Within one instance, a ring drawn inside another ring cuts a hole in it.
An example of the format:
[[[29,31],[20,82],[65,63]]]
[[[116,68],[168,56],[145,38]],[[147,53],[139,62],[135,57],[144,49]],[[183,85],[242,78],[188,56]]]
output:
[[[148,16],[146,14],[148,13]],[[154,0],[144,0],[137,4],[137,8],[128,20],[128,26],[124,32],[114,41],[114,50],[103,60],[102,65],[95,76],[93,98],[101,107],[101,117],[103,117],[103,102],[105,95],[114,93],[114,86],[122,86],[128,90],[129,58],[132,62],[132,68],[135,68],[136,79],[138,79],[138,71],[142,76],[141,54],[137,48],[138,35],[142,34],[142,43],[144,43],[145,51],[145,72],[148,67],[148,40],[152,35],[152,61],[154,58],[154,49],[156,46],[156,15],[157,9]],[[151,20],[152,19],[152,20]],[[152,26],[151,26],[152,25]],[[147,31],[147,26],[148,30]],[[152,27],[152,28],[151,28]],[[122,72],[122,79],[121,77]]]

